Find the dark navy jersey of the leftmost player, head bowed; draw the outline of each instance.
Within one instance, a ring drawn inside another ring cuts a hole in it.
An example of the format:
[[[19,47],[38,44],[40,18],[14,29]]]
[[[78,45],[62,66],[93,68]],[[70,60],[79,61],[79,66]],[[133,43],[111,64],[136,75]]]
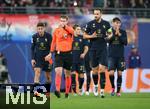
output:
[[[49,54],[51,42],[52,36],[49,33],[45,32],[44,36],[39,36],[38,33],[35,33],[32,36],[32,59],[40,58]]]

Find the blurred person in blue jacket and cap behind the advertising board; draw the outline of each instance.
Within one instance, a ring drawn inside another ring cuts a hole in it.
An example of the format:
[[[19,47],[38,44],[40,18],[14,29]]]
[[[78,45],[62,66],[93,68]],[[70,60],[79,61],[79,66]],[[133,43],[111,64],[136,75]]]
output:
[[[128,67],[129,68],[140,68],[141,67],[141,56],[135,45],[132,46],[131,52],[128,57]]]

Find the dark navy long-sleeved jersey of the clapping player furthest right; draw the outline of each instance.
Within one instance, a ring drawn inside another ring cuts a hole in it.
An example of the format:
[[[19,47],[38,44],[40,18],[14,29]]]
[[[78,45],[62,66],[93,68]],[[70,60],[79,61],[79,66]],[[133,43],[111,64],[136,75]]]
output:
[[[120,29],[121,35],[115,35],[115,30],[113,29],[113,36],[109,40],[109,57],[124,57],[124,46],[127,45],[127,34],[126,31]]]

